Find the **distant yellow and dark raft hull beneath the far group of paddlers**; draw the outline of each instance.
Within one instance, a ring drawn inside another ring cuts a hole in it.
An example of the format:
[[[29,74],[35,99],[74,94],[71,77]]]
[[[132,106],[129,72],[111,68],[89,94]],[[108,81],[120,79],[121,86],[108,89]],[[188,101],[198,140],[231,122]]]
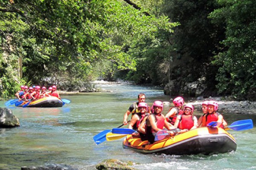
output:
[[[23,107],[23,105],[26,105],[26,103],[27,102],[23,102],[22,104],[16,105],[16,106]],[[32,101],[26,107],[57,108],[57,107],[62,107],[62,106],[63,106],[63,102],[61,101],[61,99],[58,99],[58,97],[49,96],[49,97],[44,97],[42,99],[37,99],[35,101]]]

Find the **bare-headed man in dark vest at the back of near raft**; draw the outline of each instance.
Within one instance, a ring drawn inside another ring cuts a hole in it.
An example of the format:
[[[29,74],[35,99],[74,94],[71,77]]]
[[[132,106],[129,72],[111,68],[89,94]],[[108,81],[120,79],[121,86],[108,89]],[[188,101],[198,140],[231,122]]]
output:
[[[124,115],[124,120],[123,120],[123,125],[127,125],[128,122],[127,122],[127,119],[128,119],[128,116],[131,114],[131,118],[132,116],[139,112],[138,110],[138,105],[140,102],[145,102],[145,94],[144,93],[140,93],[138,95],[138,98],[137,98],[138,102],[134,102],[133,104],[130,105],[130,107],[128,108],[128,110],[125,112],[125,115]],[[150,108],[148,107],[148,113],[151,113],[151,110]]]

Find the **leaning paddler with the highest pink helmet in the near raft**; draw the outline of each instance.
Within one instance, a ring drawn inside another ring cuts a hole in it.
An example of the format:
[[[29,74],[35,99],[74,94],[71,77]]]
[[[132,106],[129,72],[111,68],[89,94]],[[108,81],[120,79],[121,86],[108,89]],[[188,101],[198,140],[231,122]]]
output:
[[[184,99],[178,96],[172,102],[174,107],[170,108],[165,117],[167,122],[174,125],[177,116],[183,114],[182,106],[184,105]]]

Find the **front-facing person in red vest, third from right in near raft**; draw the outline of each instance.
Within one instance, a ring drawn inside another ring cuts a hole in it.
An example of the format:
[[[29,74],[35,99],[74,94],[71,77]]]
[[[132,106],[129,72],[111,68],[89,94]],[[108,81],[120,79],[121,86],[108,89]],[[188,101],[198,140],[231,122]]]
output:
[[[186,131],[197,128],[197,118],[193,115],[193,111],[194,106],[192,104],[185,105],[184,113],[177,116],[174,127]]]

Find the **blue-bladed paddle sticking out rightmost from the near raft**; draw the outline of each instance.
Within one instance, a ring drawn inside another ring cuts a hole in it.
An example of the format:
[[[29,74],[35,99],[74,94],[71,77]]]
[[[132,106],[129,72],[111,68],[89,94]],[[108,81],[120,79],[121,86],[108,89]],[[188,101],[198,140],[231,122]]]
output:
[[[210,122],[210,123],[212,123],[212,122]],[[211,127],[216,127],[217,124],[218,123],[216,123],[214,126],[211,126]],[[248,130],[248,129],[252,129],[252,128],[253,128],[253,120],[252,119],[238,120],[236,122],[233,122],[231,125],[224,127],[224,129],[232,129],[232,130],[237,130],[237,131]]]

